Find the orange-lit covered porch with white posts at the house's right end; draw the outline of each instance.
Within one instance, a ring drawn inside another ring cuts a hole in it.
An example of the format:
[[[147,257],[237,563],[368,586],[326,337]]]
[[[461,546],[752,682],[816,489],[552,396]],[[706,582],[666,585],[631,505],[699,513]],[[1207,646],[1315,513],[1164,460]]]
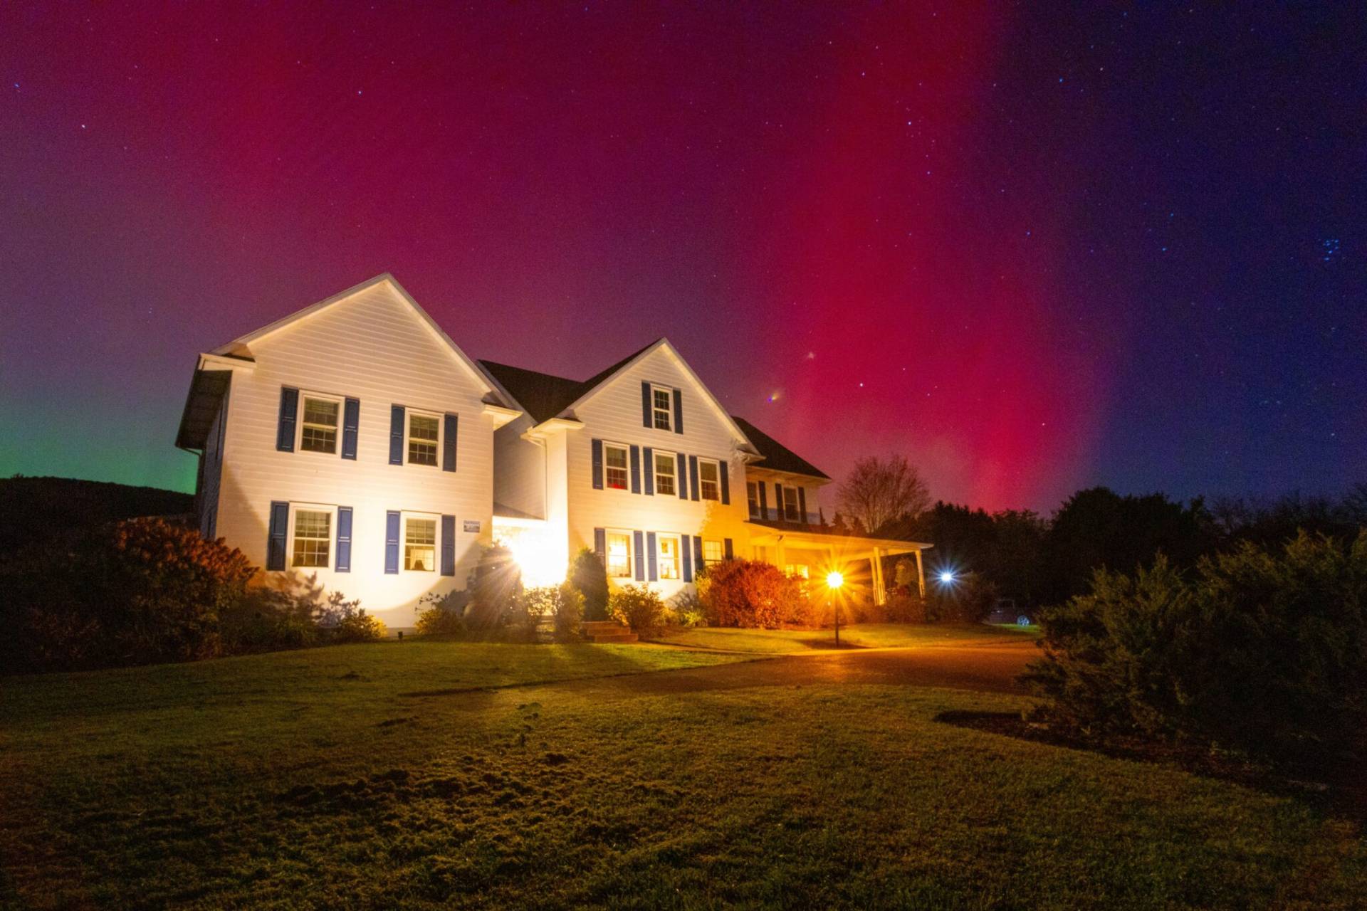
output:
[[[925,563],[921,552],[928,550],[932,546],[930,544],[830,534],[820,527],[798,523],[752,519],[746,526],[750,530],[755,559],[772,563],[786,572],[817,578],[838,570],[846,578],[860,578],[857,570],[867,561],[867,585],[874,604],[887,602],[890,586],[883,567],[884,559],[908,555],[916,560],[916,585],[921,597],[925,595]]]

